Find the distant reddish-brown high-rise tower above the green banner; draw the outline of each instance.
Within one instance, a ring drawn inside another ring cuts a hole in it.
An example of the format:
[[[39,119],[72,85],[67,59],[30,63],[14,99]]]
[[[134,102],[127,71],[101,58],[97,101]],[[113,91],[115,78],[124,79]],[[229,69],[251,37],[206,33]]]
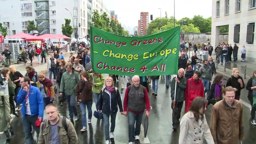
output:
[[[141,12],[140,20],[138,20],[138,34],[147,35],[147,27],[149,26],[149,13]]]

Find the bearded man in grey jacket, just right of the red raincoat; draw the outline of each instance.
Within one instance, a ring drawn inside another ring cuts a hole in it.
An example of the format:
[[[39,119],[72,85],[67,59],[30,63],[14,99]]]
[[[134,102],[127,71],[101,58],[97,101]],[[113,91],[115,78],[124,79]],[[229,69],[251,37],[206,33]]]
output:
[[[212,82],[212,68],[208,66],[208,60],[203,60],[203,66],[199,69],[202,77],[203,87],[205,87],[205,94],[209,90],[209,84]],[[205,95],[204,95],[205,97]]]

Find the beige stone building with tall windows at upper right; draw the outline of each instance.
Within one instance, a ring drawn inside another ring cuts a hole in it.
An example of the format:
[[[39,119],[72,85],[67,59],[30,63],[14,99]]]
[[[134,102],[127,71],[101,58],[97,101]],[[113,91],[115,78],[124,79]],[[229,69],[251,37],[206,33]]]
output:
[[[246,61],[256,62],[256,0],[212,0],[212,46],[219,44],[220,26],[228,26],[228,44],[246,50]],[[254,44],[255,43],[255,44]]]

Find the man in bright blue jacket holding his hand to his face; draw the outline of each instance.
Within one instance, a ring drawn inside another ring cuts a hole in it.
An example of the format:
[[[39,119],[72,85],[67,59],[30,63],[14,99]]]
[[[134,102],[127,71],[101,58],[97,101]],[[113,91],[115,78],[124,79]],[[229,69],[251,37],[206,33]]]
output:
[[[23,116],[23,130],[25,133],[26,144],[34,144],[34,139],[31,134],[32,127],[39,136],[40,128],[35,126],[35,121],[43,120],[44,102],[40,90],[30,83],[29,77],[23,77],[20,80],[21,90],[17,96],[17,103],[22,103],[21,113]]]

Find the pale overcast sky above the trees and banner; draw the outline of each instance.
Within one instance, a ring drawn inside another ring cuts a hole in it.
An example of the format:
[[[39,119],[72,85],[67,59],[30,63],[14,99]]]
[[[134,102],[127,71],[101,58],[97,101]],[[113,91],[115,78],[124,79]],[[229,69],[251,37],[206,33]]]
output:
[[[102,0],[108,10],[115,10],[118,21],[122,25],[138,26],[140,12],[149,12],[153,19],[162,17],[167,12],[168,17],[174,16],[174,0]],[[203,6],[203,7],[202,7]],[[160,12],[160,9],[162,12]],[[212,16],[212,0],[175,0],[175,19],[193,18],[202,15],[204,18]]]

